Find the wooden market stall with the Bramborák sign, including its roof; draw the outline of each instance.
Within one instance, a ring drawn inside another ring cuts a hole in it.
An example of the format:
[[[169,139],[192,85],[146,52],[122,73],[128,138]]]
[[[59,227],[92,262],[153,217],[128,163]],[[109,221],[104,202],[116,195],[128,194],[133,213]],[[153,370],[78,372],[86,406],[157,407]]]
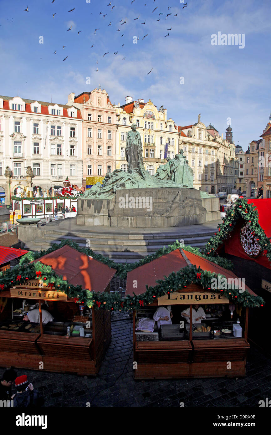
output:
[[[68,245],[36,261],[50,265],[68,284],[90,291],[110,291],[116,272]],[[110,312],[84,307],[57,291],[54,283],[46,285],[38,278],[18,281],[0,293],[8,298],[0,315],[0,365],[97,375],[111,338]],[[49,311],[54,319],[29,327],[23,315],[37,302],[39,310]]]

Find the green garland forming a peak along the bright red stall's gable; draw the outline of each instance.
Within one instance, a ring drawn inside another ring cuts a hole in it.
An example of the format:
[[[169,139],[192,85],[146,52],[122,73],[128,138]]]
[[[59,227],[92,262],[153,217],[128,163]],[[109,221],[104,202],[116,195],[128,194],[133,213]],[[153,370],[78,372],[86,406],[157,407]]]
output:
[[[228,209],[222,224],[217,226],[218,231],[214,233],[214,236],[205,245],[204,254],[207,257],[210,255],[214,256],[219,246],[229,237],[240,218],[250,226],[251,232],[257,234],[258,238],[256,240],[261,246],[262,254],[266,255],[271,262],[271,243],[258,222],[259,214],[257,207],[253,203],[248,204],[246,200],[240,198],[235,202],[234,207]]]

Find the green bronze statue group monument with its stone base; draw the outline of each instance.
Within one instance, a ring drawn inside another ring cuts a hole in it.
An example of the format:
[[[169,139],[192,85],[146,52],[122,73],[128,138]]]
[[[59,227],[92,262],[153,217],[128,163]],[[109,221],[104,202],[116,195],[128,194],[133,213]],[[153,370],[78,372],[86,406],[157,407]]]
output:
[[[127,134],[128,171],[106,174],[78,199],[77,224],[122,228],[174,227],[220,218],[219,200],[193,188],[193,171],[183,150],[161,164],[155,175],[145,170],[136,124]]]

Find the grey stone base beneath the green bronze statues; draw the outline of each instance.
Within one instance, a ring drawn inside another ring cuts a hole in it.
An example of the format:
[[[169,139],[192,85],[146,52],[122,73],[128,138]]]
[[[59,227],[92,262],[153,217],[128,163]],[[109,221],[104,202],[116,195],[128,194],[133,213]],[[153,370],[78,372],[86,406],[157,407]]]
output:
[[[201,198],[196,189],[122,188],[112,199],[79,198],[76,222],[120,228],[176,227],[217,220],[218,210],[217,198]]]

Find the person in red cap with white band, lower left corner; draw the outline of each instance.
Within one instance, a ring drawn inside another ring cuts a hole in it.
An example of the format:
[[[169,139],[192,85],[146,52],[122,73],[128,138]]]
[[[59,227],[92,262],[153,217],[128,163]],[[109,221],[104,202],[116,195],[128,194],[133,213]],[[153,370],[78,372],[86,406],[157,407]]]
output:
[[[12,396],[13,407],[26,408],[28,406],[36,407],[43,405],[43,397],[40,396],[40,393],[31,383],[28,383],[27,375],[18,376],[15,379],[15,387],[17,388],[17,393]]]

